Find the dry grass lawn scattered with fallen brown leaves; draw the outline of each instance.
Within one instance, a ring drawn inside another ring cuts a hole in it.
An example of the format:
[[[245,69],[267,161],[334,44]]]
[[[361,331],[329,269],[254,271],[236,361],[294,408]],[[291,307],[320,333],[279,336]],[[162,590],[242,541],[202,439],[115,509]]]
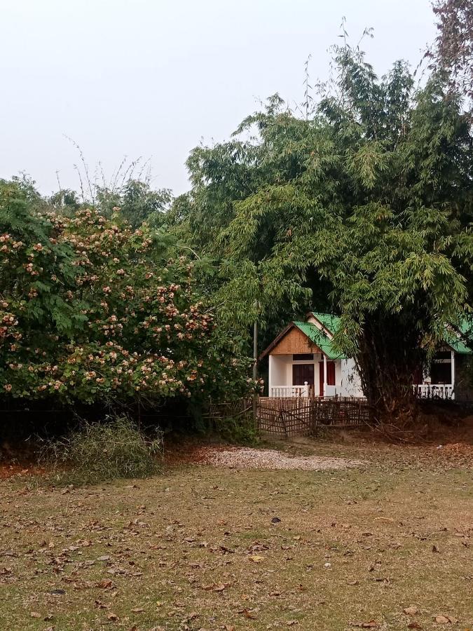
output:
[[[471,448],[291,449],[364,464],[3,480],[0,629],[472,627]]]

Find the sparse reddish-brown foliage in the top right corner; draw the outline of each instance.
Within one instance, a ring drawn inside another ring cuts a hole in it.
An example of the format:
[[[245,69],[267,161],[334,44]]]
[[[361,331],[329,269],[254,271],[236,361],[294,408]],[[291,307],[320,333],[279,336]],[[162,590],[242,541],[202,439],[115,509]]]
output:
[[[473,98],[473,4],[471,0],[434,0],[437,29],[434,64]]]

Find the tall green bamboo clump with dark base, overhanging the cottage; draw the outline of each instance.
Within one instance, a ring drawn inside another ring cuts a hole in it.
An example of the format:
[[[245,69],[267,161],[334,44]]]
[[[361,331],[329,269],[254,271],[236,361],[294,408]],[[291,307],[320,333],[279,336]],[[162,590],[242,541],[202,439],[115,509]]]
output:
[[[334,71],[312,117],[273,98],[235,140],[196,149],[180,225],[196,242],[210,228],[236,318],[328,302],[378,416],[405,418],[413,373],[469,300],[470,121],[439,74],[414,90],[397,62],[379,80],[348,44]]]

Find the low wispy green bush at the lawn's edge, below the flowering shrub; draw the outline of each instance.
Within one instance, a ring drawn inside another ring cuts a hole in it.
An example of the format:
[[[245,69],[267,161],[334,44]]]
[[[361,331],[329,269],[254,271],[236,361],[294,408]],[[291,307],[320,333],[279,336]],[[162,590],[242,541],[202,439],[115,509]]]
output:
[[[152,440],[125,416],[83,423],[68,436],[50,442],[40,460],[60,469],[60,479],[85,484],[121,477],[147,477],[162,468],[163,437]]]

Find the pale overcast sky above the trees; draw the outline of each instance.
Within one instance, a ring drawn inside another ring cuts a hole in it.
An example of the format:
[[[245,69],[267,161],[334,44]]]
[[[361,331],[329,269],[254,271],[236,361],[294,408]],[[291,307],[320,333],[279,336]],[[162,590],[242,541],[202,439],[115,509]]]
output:
[[[188,189],[185,161],[276,91],[303,100],[303,63],[327,77],[341,18],[383,74],[434,38],[430,0],[0,0],[0,177],[78,189],[83,149],[107,179],[150,159],[153,186]]]

